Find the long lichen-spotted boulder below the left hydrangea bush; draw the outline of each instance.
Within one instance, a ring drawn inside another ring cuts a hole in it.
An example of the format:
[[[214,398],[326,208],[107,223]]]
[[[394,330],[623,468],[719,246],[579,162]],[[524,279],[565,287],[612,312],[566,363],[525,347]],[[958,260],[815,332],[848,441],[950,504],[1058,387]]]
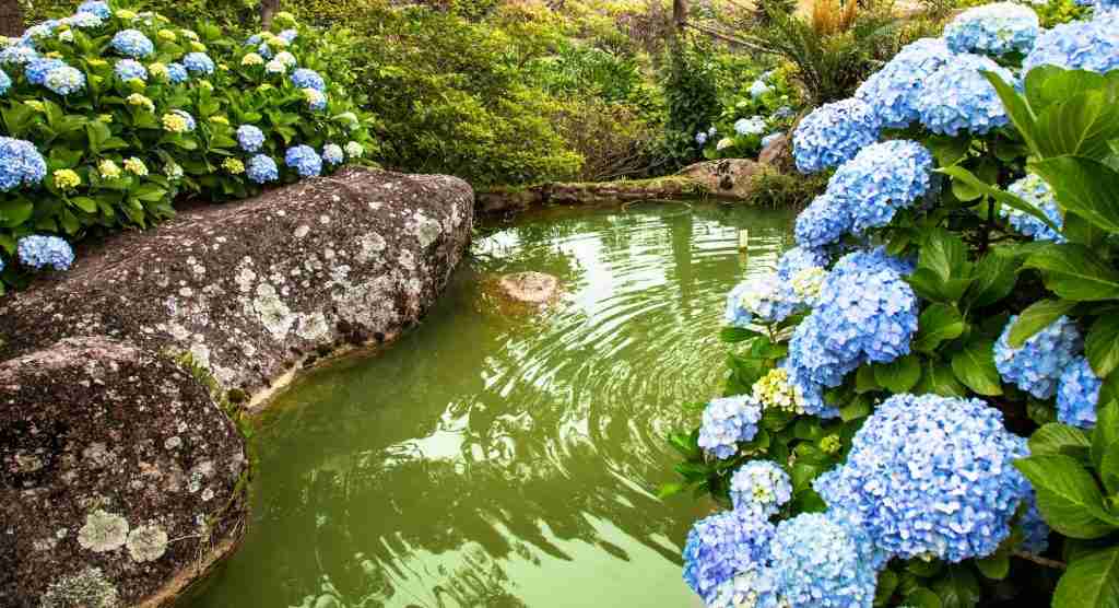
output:
[[[0,300],[0,359],[106,336],[190,353],[252,394],[316,350],[414,324],[472,219],[462,180],[365,168],[190,211]]]

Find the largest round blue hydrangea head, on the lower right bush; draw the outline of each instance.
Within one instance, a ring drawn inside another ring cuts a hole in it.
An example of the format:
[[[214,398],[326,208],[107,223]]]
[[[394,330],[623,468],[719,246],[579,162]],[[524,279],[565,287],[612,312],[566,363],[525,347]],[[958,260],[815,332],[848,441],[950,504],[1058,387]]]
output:
[[[978,400],[897,394],[852,440],[847,461],[812,487],[885,555],[960,562],[989,555],[1032,492],[1013,462],[1026,440]]]

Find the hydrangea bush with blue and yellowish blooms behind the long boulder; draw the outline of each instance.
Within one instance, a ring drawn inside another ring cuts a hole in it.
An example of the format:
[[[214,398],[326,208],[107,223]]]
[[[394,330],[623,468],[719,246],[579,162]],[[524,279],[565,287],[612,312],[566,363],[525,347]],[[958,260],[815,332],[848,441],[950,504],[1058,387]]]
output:
[[[87,234],[169,217],[179,197],[243,198],[361,162],[372,119],[316,71],[314,31],[276,24],[250,46],[91,1],[0,40],[0,290],[67,269]]]

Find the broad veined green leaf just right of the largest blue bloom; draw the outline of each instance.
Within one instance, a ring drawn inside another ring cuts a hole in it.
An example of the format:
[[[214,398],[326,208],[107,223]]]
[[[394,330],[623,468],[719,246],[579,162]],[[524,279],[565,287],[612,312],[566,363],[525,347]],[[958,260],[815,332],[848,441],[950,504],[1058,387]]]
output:
[[[1050,527],[1073,539],[1099,539],[1116,526],[1103,514],[1103,495],[1092,475],[1071,456],[1031,456],[1014,466],[1033,484]]]

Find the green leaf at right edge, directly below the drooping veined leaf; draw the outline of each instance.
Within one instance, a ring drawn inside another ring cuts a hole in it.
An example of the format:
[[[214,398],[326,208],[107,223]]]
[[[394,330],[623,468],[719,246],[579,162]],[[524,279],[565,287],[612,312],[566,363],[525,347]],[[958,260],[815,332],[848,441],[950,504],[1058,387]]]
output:
[[[1052,244],[1026,258],[1024,268],[1042,271],[1045,287],[1066,300],[1119,298],[1119,271],[1083,245]]]

